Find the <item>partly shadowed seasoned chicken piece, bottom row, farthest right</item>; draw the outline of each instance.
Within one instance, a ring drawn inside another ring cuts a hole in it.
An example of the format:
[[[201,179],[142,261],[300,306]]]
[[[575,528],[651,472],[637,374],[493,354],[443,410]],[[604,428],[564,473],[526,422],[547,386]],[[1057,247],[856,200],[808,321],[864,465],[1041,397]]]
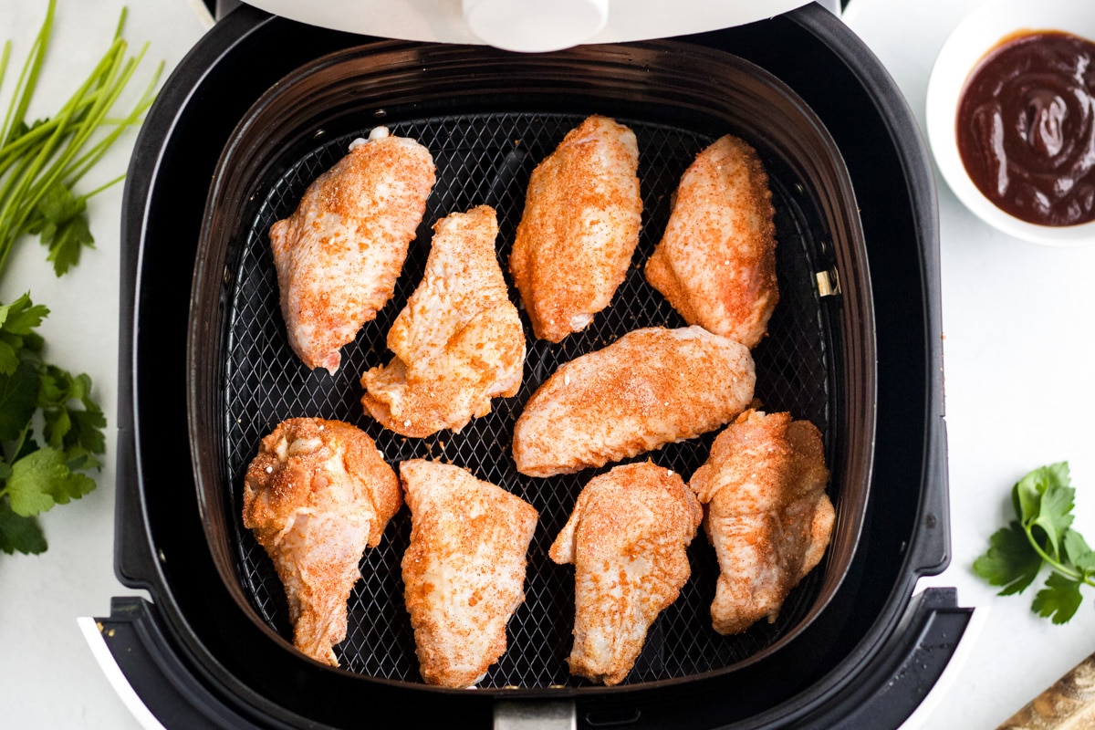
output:
[[[821,434],[789,414],[748,410],[718,434],[689,486],[721,575],[711,604],[719,634],[738,634],[780,606],[825,555],[834,511]]]

